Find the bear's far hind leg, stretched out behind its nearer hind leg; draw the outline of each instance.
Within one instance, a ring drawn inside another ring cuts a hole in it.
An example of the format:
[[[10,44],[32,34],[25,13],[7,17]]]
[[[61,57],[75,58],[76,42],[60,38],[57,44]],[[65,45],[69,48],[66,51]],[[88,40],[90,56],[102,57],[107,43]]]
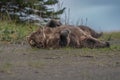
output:
[[[82,29],[86,34],[91,35],[94,38],[99,38],[103,35],[103,32],[101,33],[97,33],[96,31],[94,31],[93,29],[91,29],[88,26],[84,26],[84,25],[80,25],[78,26],[80,29]]]

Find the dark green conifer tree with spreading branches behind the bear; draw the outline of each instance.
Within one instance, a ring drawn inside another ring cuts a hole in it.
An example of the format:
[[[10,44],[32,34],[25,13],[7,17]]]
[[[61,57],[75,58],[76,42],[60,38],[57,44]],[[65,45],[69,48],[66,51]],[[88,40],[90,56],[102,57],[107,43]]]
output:
[[[33,21],[31,15],[37,16],[37,20],[42,18],[43,21],[51,18],[59,19],[65,10],[62,7],[55,10],[57,9],[55,5],[59,3],[59,0],[1,0],[0,17],[9,15],[11,20],[18,19],[18,21]]]

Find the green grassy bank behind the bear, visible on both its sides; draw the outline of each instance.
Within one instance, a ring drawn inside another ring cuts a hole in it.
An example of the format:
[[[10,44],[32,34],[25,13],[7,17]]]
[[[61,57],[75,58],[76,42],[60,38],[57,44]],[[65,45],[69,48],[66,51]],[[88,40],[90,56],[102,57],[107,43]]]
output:
[[[15,24],[14,22],[0,22],[0,41],[6,43],[20,43],[26,36],[38,27],[31,24]],[[104,33],[102,40],[120,40],[120,32]]]

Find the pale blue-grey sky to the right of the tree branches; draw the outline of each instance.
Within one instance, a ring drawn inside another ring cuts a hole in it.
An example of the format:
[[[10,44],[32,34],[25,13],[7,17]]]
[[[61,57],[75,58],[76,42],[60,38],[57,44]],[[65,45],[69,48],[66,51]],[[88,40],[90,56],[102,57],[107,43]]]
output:
[[[66,14],[70,9],[70,24],[79,22],[97,31],[120,31],[120,0],[63,0],[63,7],[67,8]]]

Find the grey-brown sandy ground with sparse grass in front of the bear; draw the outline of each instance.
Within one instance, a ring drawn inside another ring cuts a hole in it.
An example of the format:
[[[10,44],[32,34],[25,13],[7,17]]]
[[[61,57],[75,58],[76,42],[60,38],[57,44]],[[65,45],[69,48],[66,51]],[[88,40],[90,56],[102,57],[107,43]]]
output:
[[[119,49],[32,49],[0,44],[0,80],[119,80]]]

